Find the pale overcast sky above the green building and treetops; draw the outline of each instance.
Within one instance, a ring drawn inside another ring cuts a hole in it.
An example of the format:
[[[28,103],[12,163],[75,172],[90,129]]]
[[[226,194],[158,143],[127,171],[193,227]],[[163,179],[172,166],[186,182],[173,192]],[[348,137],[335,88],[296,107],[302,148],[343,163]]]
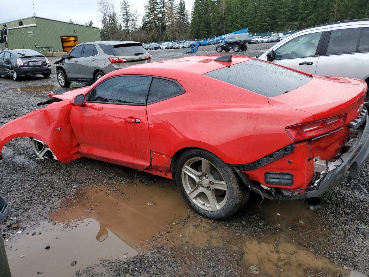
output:
[[[132,6],[132,10],[137,9],[142,18],[146,0],[128,1]],[[193,0],[185,1],[186,8],[190,12],[192,10]],[[35,13],[38,17],[61,21],[69,21],[71,18],[74,23],[78,24],[85,24],[92,20],[95,27],[101,27],[99,12],[97,11],[97,0],[33,0],[33,3],[35,4]],[[113,0],[113,3],[118,9],[120,0]],[[178,3],[178,0],[176,3]],[[0,23],[26,18],[33,15],[31,0],[0,0],[0,4],[3,8],[7,5],[11,6],[11,8],[5,9],[1,12]]]

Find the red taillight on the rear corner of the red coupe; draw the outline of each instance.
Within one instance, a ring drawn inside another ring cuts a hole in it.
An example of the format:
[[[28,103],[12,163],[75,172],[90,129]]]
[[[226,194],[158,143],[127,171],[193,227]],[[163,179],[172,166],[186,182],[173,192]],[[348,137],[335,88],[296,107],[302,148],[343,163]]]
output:
[[[286,132],[295,142],[309,140],[344,128],[346,126],[346,117],[347,114],[341,114],[310,123],[293,125],[287,127]]]

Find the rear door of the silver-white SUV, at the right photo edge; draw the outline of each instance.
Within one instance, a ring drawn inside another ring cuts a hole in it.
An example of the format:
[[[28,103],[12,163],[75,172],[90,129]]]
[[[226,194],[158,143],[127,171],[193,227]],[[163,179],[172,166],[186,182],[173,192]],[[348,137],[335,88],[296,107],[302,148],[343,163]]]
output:
[[[369,24],[360,27],[329,28],[317,75],[352,77],[365,80],[369,76]]]

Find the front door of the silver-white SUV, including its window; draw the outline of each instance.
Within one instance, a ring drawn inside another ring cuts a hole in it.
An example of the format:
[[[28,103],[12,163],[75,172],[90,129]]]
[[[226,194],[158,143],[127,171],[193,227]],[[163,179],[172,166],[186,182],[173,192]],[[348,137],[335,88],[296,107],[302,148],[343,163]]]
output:
[[[315,74],[324,36],[325,31],[319,30],[286,39],[275,48],[273,62]]]

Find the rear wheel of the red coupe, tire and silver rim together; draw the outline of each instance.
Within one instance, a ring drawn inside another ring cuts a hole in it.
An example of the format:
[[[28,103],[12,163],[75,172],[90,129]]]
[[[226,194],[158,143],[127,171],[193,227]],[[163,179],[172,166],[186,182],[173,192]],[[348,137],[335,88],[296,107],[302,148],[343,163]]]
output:
[[[180,192],[187,204],[201,215],[229,218],[250,196],[234,169],[206,150],[186,151],[175,163],[175,180]]]

